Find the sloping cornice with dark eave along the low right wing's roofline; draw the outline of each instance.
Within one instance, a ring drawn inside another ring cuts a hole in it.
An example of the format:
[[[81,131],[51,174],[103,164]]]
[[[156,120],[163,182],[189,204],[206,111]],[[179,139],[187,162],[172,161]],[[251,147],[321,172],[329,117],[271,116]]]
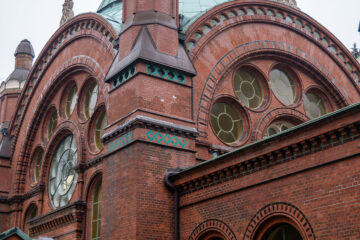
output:
[[[266,142],[274,141],[276,138],[281,136],[285,136],[288,133],[296,132],[297,130],[301,130],[302,128],[309,127],[310,124],[317,123],[324,119],[329,119],[331,116],[336,116],[339,113],[347,112],[347,110],[355,110],[360,107],[360,104],[357,104],[352,107],[348,107],[343,109],[338,113],[333,113],[330,116],[324,117],[323,119],[316,119],[315,121],[311,121],[310,123],[302,124],[302,126],[298,126],[298,128],[290,129],[289,131],[283,132],[281,134],[275,135],[268,139],[263,139],[261,141],[255,142],[234,152],[230,152],[223,156],[220,156],[217,159],[210,160],[204,163],[201,163],[195,167],[189,168],[177,174],[174,179],[181,179],[184,174],[191,174],[193,171],[196,171],[199,168],[203,168],[208,164],[216,164],[220,159],[224,160],[227,157],[234,156],[235,154],[241,154],[242,152],[254,151],[254,149],[263,146]],[[297,143],[287,145],[280,149],[275,149],[271,152],[267,152],[256,156],[254,158],[250,158],[248,160],[243,160],[235,165],[227,166],[215,172],[202,175],[201,177],[193,178],[191,180],[186,180],[181,184],[177,184],[176,187],[179,192],[184,195],[187,193],[195,192],[200,189],[204,189],[210,186],[214,186],[232,179],[240,178],[242,176],[252,174],[257,171],[261,171],[268,167],[281,164],[284,162],[292,161],[294,159],[313,154],[316,152],[320,152],[326,149],[330,149],[336,146],[343,145],[348,142],[352,142],[360,139],[360,121],[355,121],[351,124],[344,125],[340,128],[330,130],[328,132],[322,133],[317,136],[309,137],[307,139],[303,139]]]

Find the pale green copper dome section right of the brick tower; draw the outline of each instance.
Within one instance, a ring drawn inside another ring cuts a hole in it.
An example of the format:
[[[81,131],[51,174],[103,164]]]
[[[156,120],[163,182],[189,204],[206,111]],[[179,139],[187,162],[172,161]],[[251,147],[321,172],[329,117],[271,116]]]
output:
[[[233,0],[179,0],[182,30],[186,30],[196,19],[213,7]]]

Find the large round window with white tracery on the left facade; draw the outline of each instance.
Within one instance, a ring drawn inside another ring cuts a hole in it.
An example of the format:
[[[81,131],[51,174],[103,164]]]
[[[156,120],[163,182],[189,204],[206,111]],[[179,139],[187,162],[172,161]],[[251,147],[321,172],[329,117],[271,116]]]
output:
[[[78,177],[76,164],[75,137],[68,135],[56,148],[50,167],[49,198],[54,208],[63,207],[70,201]]]

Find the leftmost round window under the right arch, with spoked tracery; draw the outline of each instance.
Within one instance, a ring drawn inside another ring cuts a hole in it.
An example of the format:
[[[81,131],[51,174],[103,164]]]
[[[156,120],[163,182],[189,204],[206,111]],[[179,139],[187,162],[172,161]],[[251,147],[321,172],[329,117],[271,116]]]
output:
[[[240,113],[228,103],[215,103],[211,108],[210,121],[216,136],[225,143],[234,143],[243,135]]]

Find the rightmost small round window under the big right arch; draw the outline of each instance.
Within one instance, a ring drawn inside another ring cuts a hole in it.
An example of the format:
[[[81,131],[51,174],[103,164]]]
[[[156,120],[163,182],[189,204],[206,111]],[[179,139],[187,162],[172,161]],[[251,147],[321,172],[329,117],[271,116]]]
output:
[[[304,105],[306,115],[310,119],[318,118],[327,113],[324,100],[314,93],[305,94]]]

